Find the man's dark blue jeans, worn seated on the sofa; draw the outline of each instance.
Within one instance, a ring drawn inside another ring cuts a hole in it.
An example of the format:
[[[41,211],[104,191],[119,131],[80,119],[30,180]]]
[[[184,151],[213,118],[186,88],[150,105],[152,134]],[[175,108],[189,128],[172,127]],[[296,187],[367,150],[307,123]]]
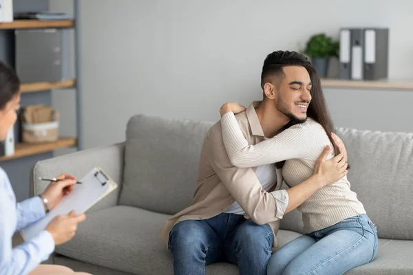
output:
[[[268,224],[257,225],[239,214],[187,220],[173,226],[169,248],[173,274],[205,274],[205,265],[233,263],[240,275],[265,275],[274,235]]]

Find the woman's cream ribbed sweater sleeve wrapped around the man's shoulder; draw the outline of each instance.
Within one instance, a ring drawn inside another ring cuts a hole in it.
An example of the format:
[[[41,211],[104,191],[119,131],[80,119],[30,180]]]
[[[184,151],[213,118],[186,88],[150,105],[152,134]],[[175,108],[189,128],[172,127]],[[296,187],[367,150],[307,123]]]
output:
[[[290,126],[273,138],[255,145],[248,144],[234,113],[226,113],[221,124],[226,153],[231,164],[240,168],[304,157],[313,144],[310,126],[305,123]]]

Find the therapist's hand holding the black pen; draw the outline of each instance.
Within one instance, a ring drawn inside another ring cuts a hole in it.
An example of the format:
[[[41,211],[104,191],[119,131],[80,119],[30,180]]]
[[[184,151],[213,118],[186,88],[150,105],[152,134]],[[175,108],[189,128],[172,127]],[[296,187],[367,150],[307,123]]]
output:
[[[45,192],[43,192],[43,197],[49,201],[50,208],[52,209],[61,201],[63,196],[69,195],[72,192],[74,184],[76,184],[76,178],[71,175],[62,174],[56,178],[62,180],[50,182]]]

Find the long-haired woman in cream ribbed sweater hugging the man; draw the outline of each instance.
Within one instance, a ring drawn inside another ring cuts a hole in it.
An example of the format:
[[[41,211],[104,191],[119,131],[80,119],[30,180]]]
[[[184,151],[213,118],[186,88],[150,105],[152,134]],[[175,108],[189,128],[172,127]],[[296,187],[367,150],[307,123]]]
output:
[[[303,103],[306,106],[301,106],[308,108],[307,119],[301,123],[290,121],[283,131],[264,142],[249,145],[244,138],[234,114],[244,107],[237,103],[223,105],[222,135],[234,166],[282,166],[286,184],[293,187],[313,175],[317,159],[326,145],[335,148],[328,158],[339,153],[326,133],[334,128],[326,111],[317,72],[313,68],[308,71],[312,83],[310,94],[315,105],[310,99],[308,104]],[[293,85],[293,89],[298,88]],[[377,230],[356,193],[350,190],[346,175],[315,192],[297,209],[302,213],[306,234],[271,256],[267,274],[343,274],[369,263],[376,256]]]

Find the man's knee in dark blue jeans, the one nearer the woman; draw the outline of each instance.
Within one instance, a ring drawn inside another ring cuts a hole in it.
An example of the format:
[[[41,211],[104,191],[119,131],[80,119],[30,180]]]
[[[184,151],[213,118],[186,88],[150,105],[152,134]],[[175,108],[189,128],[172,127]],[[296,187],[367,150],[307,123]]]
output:
[[[268,224],[258,225],[251,220],[240,225],[235,234],[235,242],[238,245],[265,246],[270,249],[273,238],[273,231]]]

